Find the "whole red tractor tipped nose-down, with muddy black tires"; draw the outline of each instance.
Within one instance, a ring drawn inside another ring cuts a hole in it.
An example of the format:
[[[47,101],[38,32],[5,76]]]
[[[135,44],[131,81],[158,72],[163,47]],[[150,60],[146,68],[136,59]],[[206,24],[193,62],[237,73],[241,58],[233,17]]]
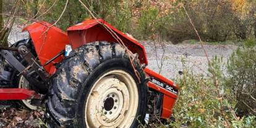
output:
[[[171,80],[147,69],[134,38],[104,20],[85,20],[62,32],[47,22],[0,47],[0,100],[46,107],[53,127],[137,127],[169,119],[178,95]]]

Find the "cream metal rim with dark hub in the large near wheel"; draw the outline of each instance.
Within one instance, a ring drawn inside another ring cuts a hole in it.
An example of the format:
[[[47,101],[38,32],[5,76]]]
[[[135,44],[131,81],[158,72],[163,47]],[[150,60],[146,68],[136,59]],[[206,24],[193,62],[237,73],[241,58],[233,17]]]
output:
[[[103,74],[90,90],[85,104],[87,127],[130,127],[139,101],[137,85],[124,70]]]

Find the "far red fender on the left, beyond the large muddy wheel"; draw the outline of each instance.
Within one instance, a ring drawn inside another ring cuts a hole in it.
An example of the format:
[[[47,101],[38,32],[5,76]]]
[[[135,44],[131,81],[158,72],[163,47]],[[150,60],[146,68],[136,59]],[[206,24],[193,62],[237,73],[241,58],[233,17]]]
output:
[[[67,33],[62,32],[62,30],[57,27],[51,27],[51,24],[47,22],[34,22],[23,28],[23,31],[25,30],[30,33],[41,65],[56,56],[56,54],[60,53],[65,49],[65,46],[69,44]],[[51,66],[61,62],[62,59],[63,56],[59,56],[59,58],[56,58],[50,64],[45,66],[46,71],[49,73]]]

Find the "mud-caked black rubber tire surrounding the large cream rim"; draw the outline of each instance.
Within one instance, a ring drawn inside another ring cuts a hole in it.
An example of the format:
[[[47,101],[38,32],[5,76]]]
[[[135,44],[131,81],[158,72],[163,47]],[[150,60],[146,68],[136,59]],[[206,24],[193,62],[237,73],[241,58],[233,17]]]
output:
[[[51,79],[52,87],[46,105],[51,119],[61,127],[86,127],[84,108],[93,83],[109,70],[121,69],[137,83],[139,106],[131,127],[138,127],[147,111],[147,81],[139,59],[134,55],[132,60],[140,80],[134,73],[126,50],[117,43],[97,41],[72,51],[69,58],[59,64]]]

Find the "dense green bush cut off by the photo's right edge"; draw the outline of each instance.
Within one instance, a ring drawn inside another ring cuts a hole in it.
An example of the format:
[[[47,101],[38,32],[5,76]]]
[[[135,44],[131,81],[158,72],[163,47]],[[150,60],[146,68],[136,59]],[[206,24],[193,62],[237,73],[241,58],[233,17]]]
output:
[[[237,99],[237,113],[256,115],[256,47],[255,41],[245,41],[245,46],[237,49],[228,62],[230,79],[227,85],[233,88]]]

